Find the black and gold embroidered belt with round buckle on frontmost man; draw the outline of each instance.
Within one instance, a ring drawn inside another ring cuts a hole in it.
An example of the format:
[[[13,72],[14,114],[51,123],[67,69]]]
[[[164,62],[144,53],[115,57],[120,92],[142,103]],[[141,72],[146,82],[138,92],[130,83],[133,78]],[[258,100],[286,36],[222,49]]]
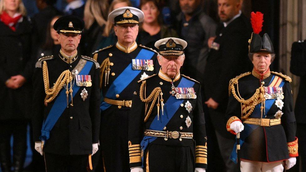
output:
[[[145,136],[164,137],[164,138],[193,138],[193,133],[182,133],[177,131],[156,131],[145,130]]]

